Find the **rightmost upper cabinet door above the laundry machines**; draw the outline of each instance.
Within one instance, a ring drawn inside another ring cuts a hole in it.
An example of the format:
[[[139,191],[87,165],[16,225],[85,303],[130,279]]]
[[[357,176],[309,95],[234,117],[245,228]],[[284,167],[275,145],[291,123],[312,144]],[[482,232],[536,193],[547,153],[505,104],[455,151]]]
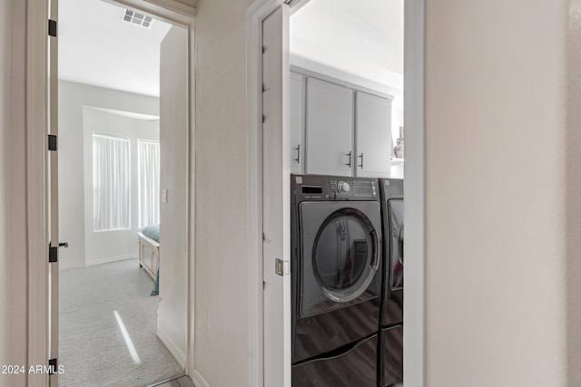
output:
[[[355,98],[357,176],[389,178],[391,101],[366,92],[356,92]]]

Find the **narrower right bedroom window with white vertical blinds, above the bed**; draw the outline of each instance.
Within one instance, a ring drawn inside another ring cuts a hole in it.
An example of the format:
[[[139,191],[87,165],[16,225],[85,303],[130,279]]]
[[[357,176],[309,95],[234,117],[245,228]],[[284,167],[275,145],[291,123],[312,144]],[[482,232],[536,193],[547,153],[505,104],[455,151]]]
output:
[[[137,140],[139,227],[160,222],[160,143]]]

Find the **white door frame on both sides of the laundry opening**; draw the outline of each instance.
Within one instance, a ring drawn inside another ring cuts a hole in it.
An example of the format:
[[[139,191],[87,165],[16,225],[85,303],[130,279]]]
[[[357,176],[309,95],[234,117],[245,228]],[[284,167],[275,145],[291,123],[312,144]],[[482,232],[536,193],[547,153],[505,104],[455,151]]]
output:
[[[250,358],[250,386],[264,385],[263,283],[262,283],[262,21],[283,3],[291,13],[310,0],[256,0],[246,15],[248,108],[248,255],[251,259],[251,321],[249,339],[255,350]],[[317,0],[313,0],[317,1]],[[405,0],[404,105],[406,122],[406,271],[404,290],[404,380],[406,387],[425,385],[425,2]],[[288,53],[288,47],[287,47]],[[282,55],[283,53],[281,53]],[[284,139],[284,137],[282,138]],[[284,140],[283,140],[284,141]],[[276,149],[288,149],[276,144]],[[281,173],[283,171],[281,170]],[[281,198],[281,203],[282,203]],[[287,227],[287,229],[289,229]],[[281,300],[282,302],[282,300]],[[288,305],[290,308],[291,305]],[[285,381],[288,382],[288,381]]]

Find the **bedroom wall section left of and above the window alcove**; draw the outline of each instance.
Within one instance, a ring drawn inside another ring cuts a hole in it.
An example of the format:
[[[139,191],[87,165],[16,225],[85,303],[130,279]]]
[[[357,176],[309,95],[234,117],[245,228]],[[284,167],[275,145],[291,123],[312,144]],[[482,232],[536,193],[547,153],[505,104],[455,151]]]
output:
[[[59,82],[59,232],[69,242],[59,251],[61,269],[85,266],[84,106],[159,115],[154,97]]]

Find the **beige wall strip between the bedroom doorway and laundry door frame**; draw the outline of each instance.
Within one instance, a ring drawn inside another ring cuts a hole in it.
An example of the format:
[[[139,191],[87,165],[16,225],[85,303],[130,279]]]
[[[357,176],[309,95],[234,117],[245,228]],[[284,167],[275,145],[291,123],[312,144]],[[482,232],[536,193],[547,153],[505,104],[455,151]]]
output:
[[[252,0],[198,0],[195,369],[211,386],[249,374],[245,12]]]

